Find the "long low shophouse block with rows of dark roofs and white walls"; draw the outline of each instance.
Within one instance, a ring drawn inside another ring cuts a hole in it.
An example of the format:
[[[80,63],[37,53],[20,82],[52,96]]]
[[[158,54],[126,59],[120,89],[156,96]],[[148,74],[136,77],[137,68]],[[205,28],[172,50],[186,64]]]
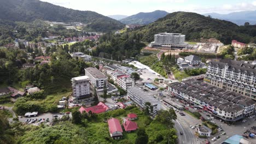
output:
[[[170,83],[168,91],[224,121],[238,121],[254,113],[252,99],[194,79]]]

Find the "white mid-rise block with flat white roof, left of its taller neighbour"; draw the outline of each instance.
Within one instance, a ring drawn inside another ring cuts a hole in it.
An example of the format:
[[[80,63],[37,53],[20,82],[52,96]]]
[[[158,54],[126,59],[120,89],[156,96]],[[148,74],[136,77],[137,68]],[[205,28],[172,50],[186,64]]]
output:
[[[72,95],[73,95],[73,102],[76,103],[77,101],[82,100],[93,100],[90,93],[90,83],[88,76],[79,76],[73,77],[71,79],[72,82]]]

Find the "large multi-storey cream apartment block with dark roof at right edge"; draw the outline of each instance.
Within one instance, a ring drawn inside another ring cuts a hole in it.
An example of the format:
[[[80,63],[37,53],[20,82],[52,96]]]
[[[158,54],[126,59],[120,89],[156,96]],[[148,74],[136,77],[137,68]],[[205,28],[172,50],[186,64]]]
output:
[[[205,82],[256,100],[256,65],[222,59],[209,62]]]

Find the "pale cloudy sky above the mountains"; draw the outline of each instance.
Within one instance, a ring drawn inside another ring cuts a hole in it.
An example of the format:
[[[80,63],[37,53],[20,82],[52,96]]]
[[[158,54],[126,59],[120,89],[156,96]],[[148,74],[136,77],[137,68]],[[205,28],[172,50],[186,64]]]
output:
[[[90,10],[102,15],[134,15],[165,10],[199,14],[228,14],[256,10],[256,0],[40,0],[76,10]]]

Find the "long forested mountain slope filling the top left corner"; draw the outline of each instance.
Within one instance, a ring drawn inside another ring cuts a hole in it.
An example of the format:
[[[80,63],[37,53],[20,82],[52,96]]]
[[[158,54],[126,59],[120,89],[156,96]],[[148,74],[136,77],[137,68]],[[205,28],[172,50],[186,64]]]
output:
[[[91,31],[112,31],[124,25],[94,11],[80,11],[60,7],[39,0],[0,0],[0,19],[31,22],[36,19],[57,22],[82,22]]]

